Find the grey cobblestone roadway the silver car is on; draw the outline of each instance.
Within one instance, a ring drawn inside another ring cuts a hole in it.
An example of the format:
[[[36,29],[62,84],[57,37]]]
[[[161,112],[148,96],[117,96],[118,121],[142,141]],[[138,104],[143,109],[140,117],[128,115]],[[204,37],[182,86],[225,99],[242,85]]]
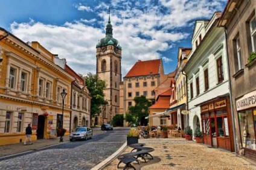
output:
[[[126,142],[129,128],[114,128],[87,141],[67,142],[0,161],[0,169],[91,169]]]

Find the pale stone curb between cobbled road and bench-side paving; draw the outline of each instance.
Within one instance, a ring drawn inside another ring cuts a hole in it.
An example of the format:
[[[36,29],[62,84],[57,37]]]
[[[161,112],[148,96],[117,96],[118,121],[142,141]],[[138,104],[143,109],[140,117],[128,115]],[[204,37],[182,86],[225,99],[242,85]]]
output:
[[[114,154],[107,157],[107,159],[103,160],[103,162],[99,163],[98,165],[94,166],[91,170],[101,170],[105,168],[112,160],[116,159],[124,150],[127,148],[127,142],[125,142]]]

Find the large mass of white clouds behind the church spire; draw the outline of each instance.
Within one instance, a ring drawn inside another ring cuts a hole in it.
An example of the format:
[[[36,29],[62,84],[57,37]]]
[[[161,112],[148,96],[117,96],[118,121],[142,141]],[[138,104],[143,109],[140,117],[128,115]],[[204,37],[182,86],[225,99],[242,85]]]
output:
[[[194,19],[208,17],[221,7],[223,0],[161,0],[161,1],[111,1],[111,24],[114,38],[120,41],[122,51],[122,75],[138,60],[162,58],[165,63],[173,57],[159,51],[176,47],[177,42],[188,39],[191,32],[183,30]],[[63,25],[46,25],[31,19],[28,23],[11,24],[11,32],[27,41],[38,41],[46,49],[66,58],[68,65],[80,74],[95,73],[95,46],[105,35],[108,20],[108,4],[99,2],[95,7],[83,4],[77,10],[92,11],[96,18],[74,19]],[[94,25],[101,25],[97,28]],[[177,49],[178,50],[178,49]],[[174,63],[176,65],[176,63]]]

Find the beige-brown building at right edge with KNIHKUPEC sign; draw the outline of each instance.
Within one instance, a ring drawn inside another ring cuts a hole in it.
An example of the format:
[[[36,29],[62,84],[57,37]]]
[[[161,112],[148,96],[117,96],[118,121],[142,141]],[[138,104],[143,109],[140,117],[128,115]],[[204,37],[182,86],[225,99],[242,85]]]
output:
[[[236,151],[256,160],[256,1],[230,0],[219,22],[226,30]]]

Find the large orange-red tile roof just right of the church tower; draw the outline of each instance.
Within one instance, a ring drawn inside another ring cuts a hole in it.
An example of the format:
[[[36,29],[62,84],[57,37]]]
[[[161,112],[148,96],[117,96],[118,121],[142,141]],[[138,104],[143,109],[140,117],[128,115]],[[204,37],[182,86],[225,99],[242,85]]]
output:
[[[161,59],[137,61],[135,65],[130,69],[125,77],[135,77],[141,75],[154,75],[159,73]]]

